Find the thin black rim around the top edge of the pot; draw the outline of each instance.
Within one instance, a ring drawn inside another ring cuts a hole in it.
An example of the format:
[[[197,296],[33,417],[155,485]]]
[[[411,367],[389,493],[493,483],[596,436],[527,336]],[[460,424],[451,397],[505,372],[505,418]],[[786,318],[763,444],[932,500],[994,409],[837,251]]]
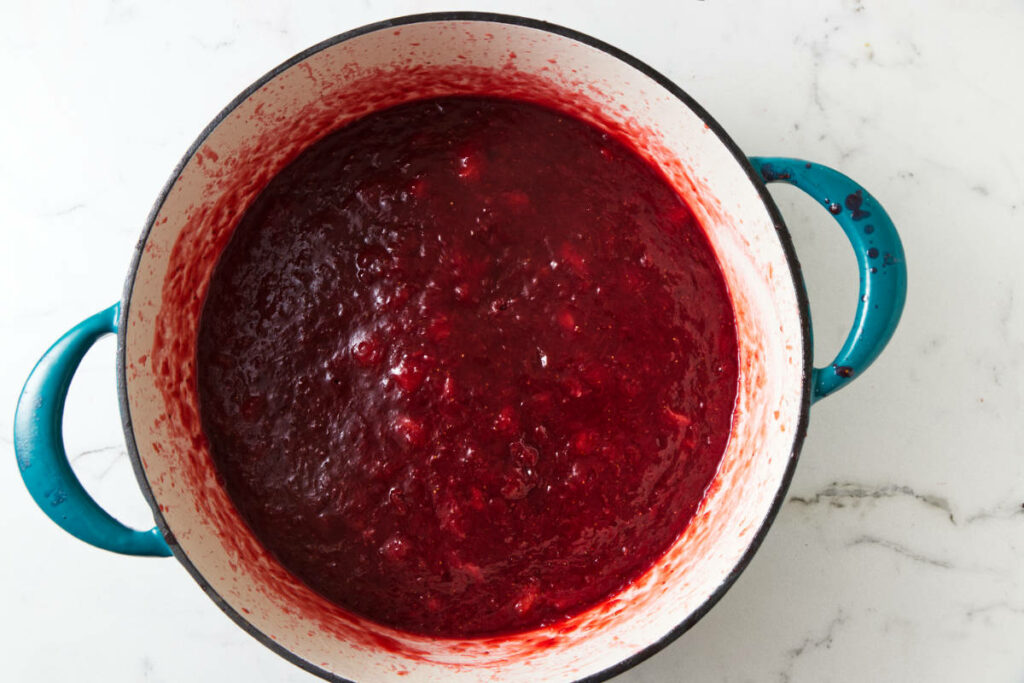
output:
[[[470,22],[492,22],[496,24],[509,24],[513,26],[526,27],[529,29],[538,29],[541,31],[546,31],[548,33],[553,33],[565,38],[570,38],[572,40],[579,41],[591,47],[597,48],[611,56],[625,61],[629,66],[633,67],[637,71],[641,72],[648,78],[655,81],[663,88],[671,92],[673,95],[678,97],[683,101],[694,114],[696,114],[708,128],[715,133],[716,136],[722,141],[723,144],[729,150],[732,156],[736,159],[739,165],[746,172],[751,183],[757,189],[761,201],[764,203],[765,208],[768,210],[771,216],[772,223],[775,226],[776,234],[778,236],[779,242],[782,246],[782,250],[785,253],[786,262],[790,266],[790,273],[793,278],[794,289],[797,293],[797,302],[799,306],[800,313],[800,326],[801,326],[801,336],[803,341],[803,356],[804,356],[804,367],[803,367],[803,394],[801,396],[801,408],[800,416],[796,429],[794,430],[794,442],[793,451],[790,454],[790,459],[786,464],[785,472],[782,475],[782,480],[779,484],[778,492],[775,495],[772,505],[768,510],[768,514],[762,521],[761,527],[758,529],[757,533],[753,537],[750,546],[743,551],[742,556],[739,561],[733,566],[728,575],[723,580],[715,592],[712,593],[705,602],[697,607],[693,612],[691,612],[685,620],[683,620],[679,625],[677,625],[672,631],[666,634],[659,640],[651,643],[644,649],[632,654],[631,656],[622,659],[617,664],[604,669],[596,674],[592,674],[582,679],[578,679],[575,683],[597,683],[599,681],[605,681],[613,676],[632,669],[641,661],[649,658],[656,652],[660,651],[686,631],[688,631],[694,624],[696,624],[700,618],[703,617],[708,611],[718,603],[719,600],[725,595],[725,593],[732,587],[732,585],[739,578],[739,574],[743,572],[743,569],[750,564],[751,560],[754,558],[755,553],[760,548],[762,542],[768,533],[768,528],[771,526],[779,509],[782,507],[782,503],[785,500],[786,492],[790,488],[790,482],[793,480],[794,472],[796,471],[797,461],[800,457],[800,450],[803,445],[804,438],[807,434],[807,424],[810,414],[811,404],[811,335],[810,335],[810,305],[807,300],[807,293],[804,287],[804,280],[802,274],[802,269],[800,266],[800,261],[797,258],[796,249],[794,248],[793,238],[790,234],[785,223],[782,220],[782,216],[779,213],[778,207],[772,200],[771,195],[768,194],[768,189],[765,183],[762,181],[760,175],[755,171],[754,167],[751,166],[748,158],[739,150],[732,138],[728,136],[722,126],[702,108],[700,106],[692,97],[690,97],[686,92],[684,92],[679,86],[670,81],[668,78],[663,76],[660,73],[644,63],[640,59],[624,52],[623,50],[613,47],[603,41],[596,38],[592,38],[586,34],[580,33],[572,29],[566,29],[554,24],[549,24],[547,22],[541,22],[538,19],[526,18],[523,16],[516,16],[512,14],[500,14],[495,12],[476,12],[476,11],[446,11],[446,12],[427,12],[420,14],[409,14],[406,16],[399,16],[395,18],[385,19],[382,22],[375,22],[373,24],[368,24],[366,26],[359,27],[357,29],[352,29],[351,31],[346,31],[345,33],[339,34],[332,38],[328,38],[305,50],[299,52],[298,54],[292,56],[286,61],[282,62],[274,69],[270,70],[258,80],[256,80],[252,85],[243,90],[234,99],[232,99],[216,117],[211,121],[203,132],[200,133],[196,141],[193,142],[188,151],[185,152],[184,156],[178,162],[174,171],[171,173],[170,178],[164,184],[160,196],[157,198],[153,209],[146,218],[145,227],[139,237],[138,243],[135,246],[135,251],[132,254],[131,267],[128,271],[128,276],[125,281],[124,292],[121,298],[121,317],[118,322],[118,345],[117,345],[117,372],[118,372],[118,401],[121,408],[121,422],[125,433],[125,442],[128,449],[129,459],[131,460],[132,469],[135,472],[135,478],[138,480],[139,487],[142,489],[142,494],[145,497],[146,502],[150,504],[153,510],[154,518],[156,519],[157,526],[160,528],[164,536],[164,540],[170,546],[171,551],[174,553],[174,557],[185,567],[193,579],[199,584],[203,592],[206,593],[210,599],[220,607],[224,613],[227,614],[234,622],[236,625],[245,630],[253,638],[261,642],[266,647],[270,648],[284,658],[288,659],[292,664],[304,669],[305,671],[318,676],[325,680],[332,681],[333,683],[353,683],[348,679],[342,678],[326,669],[323,669],[312,663],[303,659],[299,655],[295,654],[288,648],[284,647],[274,640],[267,637],[262,631],[258,630],[253,626],[248,620],[246,620],[242,614],[236,611],[227,602],[216,592],[216,590],[207,582],[202,573],[196,568],[196,566],[188,559],[188,556],[178,545],[177,540],[171,533],[170,527],[167,521],[164,519],[164,515],[160,510],[160,505],[158,504],[156,498],[154,497],[153,489],[150,487],[150,482],[146,479],[145,472],[142,468],[141,459],[138,454],[138,447],[135,443],[135,435],[132,429],[131,420],[131,409],[128,404],[128,389],[127,389],[127,376],[126,376],[126,344],[125,344],[125,330],[127,329],[127,322],[129,316],[129,307],[131,304],[131,294],[132,289],[135,285],[135,275],[138,270],[138,264],[142,256],[142,251],[145,247],[146,241],[148,240],[150,232],[153,229],[154,222],[156,221],[157,215],[160,213],[161,208],[164,205],[164,201],[167,199],[168,194],[177,181],[178,176],[183,170],[185,164],[191,159],[193,155],[199,150],[199,147],[206,141],[206,138],[211,132],[231,113],[241,104],[245,99],[247,99],[253,92],[262,87],[266,82],[270,81],[279,74],[291,69],[296,63],[306,59],[307,57],[342,43],[352,38],[362,36],[368,33],[373,33],[375,31],[380,31],[382,29],[389,29],[395,27],[407,26],[410,24],[422,24],[430,22],[452,22],[452,20],[470,20]]]

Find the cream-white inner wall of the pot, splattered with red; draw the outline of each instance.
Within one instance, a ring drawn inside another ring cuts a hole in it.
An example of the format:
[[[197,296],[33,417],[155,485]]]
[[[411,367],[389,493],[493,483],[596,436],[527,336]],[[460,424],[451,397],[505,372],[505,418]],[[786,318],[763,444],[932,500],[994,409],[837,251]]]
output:
[[[629,135],[665,170],[705,225],[728,282],[740,386],[708,497],[650,571],[568,623],[514,637],[441,640],[344,612],[256,543],[214,474],[200,428],[194,347],[217,255],[248,204],[298,152],[370,111],[472,93],[557,98]],[[159,207],[124,334],[135,443],[181,553],[254,632],[321,673],[359,681],[575,679],[662,640],[716,594],[758,536],[783,483],[804,400],[796,286],[743,165],[684,101],[617,56],[504,22],[378,28],[313,51],[245,96],[185,161]]]

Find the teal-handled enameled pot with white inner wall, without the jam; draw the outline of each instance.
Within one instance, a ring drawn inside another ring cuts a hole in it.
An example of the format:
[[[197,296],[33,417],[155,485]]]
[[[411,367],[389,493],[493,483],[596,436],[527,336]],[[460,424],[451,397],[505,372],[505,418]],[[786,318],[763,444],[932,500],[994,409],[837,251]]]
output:
[[[331,605],[254,540],[217,482],[200,429],[197,323],[213,265],[239,217],[302,148],[369,112],[414,98],[500,94],[557,102],[627,135],[701,220],[728,282],[740,341],[739,390],[720,471],[693,522],[622,594],[555,627],[445,640],[395,632]],[[860,302],[836,360],[811,365],[807,297],[765,183],[820,201],[854,247]],[[692,626],[750,561],[783,500],[810,404],[874,359],[903,307],[899,238],[846,176],[793,159],[746,158],[676,85],[574,31],[513,16],[442,13],[374,24],[289,59],[199,136],[150,215],[118,304],[40,359],[14,423],[26,485],[57,524],[128,555],[173,554],[234,622],[331,680],[601,680]],[[118,335],[128,453],[157,526],[130,529],[76,480],[61,442],[72,375],[89,346]]]

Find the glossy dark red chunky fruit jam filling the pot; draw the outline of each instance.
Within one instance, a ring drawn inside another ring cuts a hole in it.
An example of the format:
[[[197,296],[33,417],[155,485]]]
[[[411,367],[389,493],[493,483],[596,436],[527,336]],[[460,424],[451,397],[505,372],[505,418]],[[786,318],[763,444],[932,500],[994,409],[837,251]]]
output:
[[[662,556],[728,438],[736,337],[700,225],[625,142],[421,100],[311,145],[220,257],[199,395],[297,578],[437,636],[577,614]]]

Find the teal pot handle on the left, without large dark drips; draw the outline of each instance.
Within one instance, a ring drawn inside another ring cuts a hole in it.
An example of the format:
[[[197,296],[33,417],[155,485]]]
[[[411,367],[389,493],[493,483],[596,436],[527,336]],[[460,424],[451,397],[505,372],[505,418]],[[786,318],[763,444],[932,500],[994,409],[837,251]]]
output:
[[[36,504],[60,528],[88,544],[125,555],[169,557],[160,529],[136,531],[92,500],[68,462],[63,409],[71,378],[86,351],[116,334],[121,304],[87,317],[57,340],[33,368],[14,413],[14,453]]]

